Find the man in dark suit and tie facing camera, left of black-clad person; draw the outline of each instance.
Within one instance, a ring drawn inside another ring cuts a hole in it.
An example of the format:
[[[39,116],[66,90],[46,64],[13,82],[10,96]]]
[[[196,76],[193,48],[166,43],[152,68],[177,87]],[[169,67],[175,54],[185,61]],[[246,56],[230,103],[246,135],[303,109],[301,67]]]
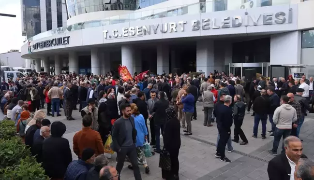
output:
[[[150,145],[154,147],[156,144],[156,137],[155,137],[155,120],[154,120],[154,112],[152,111],[155,103],[158,101],[159,99],[157,99],[156,97],[156,92],[151,90],[150,91],[150,99],[148,100],[148,113],[149,113],[149,118],[150,118]]]

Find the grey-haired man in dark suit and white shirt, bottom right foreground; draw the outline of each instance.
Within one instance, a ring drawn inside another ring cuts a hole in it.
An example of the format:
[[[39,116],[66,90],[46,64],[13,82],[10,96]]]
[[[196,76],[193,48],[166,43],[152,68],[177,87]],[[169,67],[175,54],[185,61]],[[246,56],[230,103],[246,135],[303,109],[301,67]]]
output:
[[[269,180],[290,180],[295,171],[295,166],[300,158],[307,158],[302,154],[302,142],[295,136],[284,139],[285,153],[269,161],[267,172]]]

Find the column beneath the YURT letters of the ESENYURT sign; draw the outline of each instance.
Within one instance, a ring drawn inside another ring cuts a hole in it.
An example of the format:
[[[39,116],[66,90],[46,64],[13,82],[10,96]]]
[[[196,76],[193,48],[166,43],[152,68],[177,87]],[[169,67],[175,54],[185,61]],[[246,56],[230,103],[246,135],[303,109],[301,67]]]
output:
[[[163,71],[169,74],[169,47],[159,44],[157,46],[157,74],[162,74]]]

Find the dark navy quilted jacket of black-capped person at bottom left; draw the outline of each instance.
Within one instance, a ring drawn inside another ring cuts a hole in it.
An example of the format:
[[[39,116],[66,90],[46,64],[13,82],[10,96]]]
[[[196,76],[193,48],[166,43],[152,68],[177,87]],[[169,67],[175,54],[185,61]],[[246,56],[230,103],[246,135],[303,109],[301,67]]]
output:
[[[64,180],[85,180],[92,165],[79,159],[72,161],[66,169]]]

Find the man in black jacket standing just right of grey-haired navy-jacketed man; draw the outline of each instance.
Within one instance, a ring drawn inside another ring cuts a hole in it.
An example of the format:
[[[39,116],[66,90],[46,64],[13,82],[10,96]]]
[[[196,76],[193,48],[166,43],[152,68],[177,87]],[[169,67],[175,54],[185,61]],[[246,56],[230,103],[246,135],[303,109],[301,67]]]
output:
[[[240,145],[246,145],[249,143],[248,139],[245,137],[243,130],[241,129],[241,125],[243,123],[244,115],[245,115],[245,103],[241,101],[240,95],[236,95],[234,97],[234,101],[236,102],[234,105],[233,111],[233,119],[234,119],[234,139],[233,142],[239,142],[239,136],[242,139]]]

